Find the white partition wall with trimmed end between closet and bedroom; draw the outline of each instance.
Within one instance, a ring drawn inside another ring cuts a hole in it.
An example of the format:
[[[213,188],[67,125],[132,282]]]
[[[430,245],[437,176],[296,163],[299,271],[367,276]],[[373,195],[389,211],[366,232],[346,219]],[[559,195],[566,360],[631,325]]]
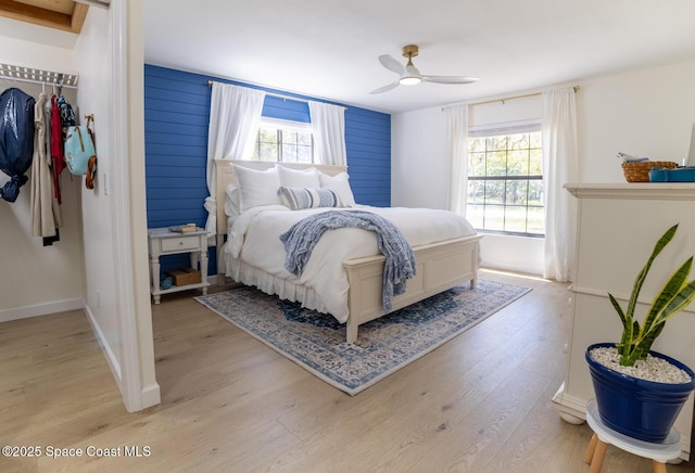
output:
[[[128,410],[160,402],[147,257],[140,18],[137,0],[90,8],[75,47],[78,102],[83,115],[94,115],[98,155],[94,189],[81,191],[86,309]]]

